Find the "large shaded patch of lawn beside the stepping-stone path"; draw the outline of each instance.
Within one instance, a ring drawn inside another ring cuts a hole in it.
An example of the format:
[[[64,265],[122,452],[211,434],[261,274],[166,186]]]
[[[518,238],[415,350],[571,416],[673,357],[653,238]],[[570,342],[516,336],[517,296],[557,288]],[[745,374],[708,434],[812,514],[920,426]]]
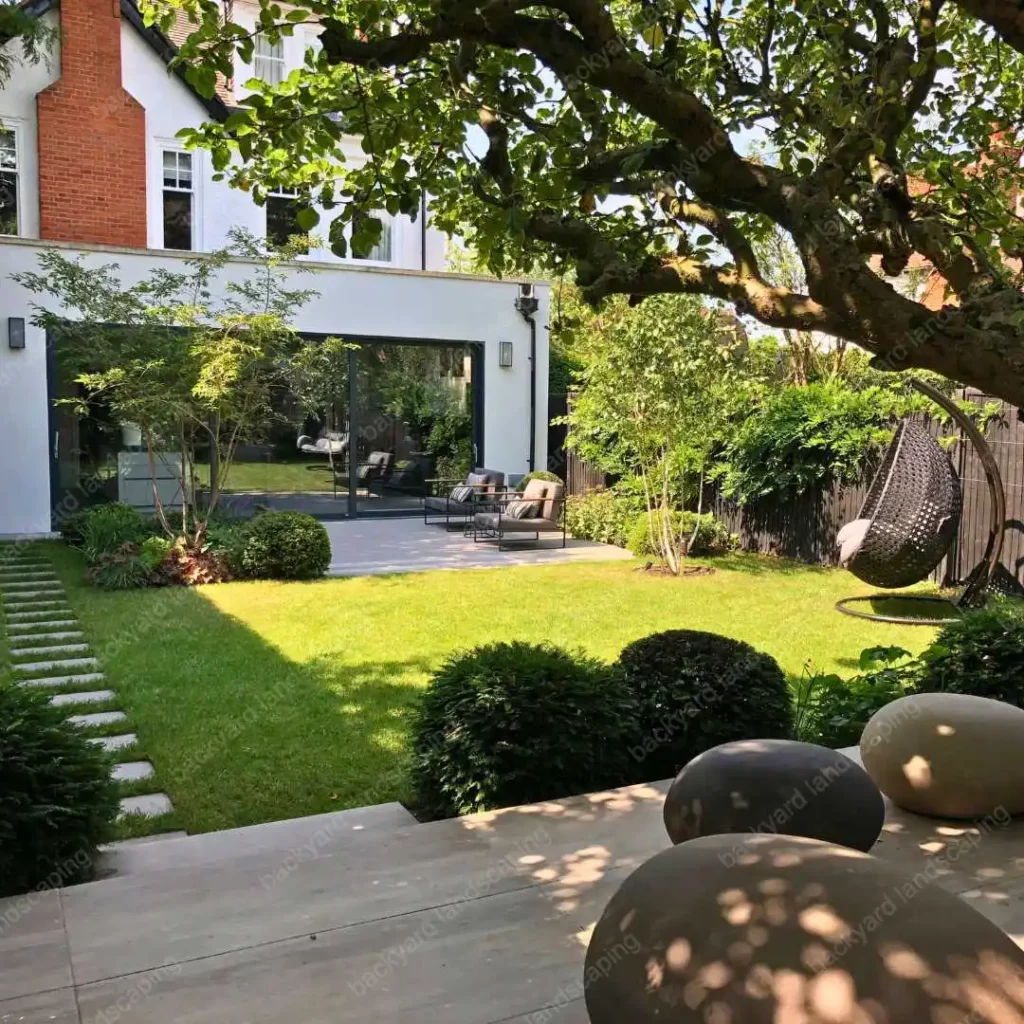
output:
[[[111,629],[125,601],[148,629]],[[96,652],[189,833],[408,799],[422,658],[298,663],[195,590],[90,593],[88,605]]]

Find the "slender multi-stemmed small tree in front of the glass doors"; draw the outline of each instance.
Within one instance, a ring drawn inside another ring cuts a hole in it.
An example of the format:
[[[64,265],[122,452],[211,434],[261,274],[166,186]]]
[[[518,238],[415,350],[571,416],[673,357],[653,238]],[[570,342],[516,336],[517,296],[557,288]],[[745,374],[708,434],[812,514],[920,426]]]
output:
[[[157,518],[189,550],[205,545],[219,480],[229,473],[239,443],[256,439],[272,419],[272,390],[298,344],[292,319],[315,294],[285,287],[281,264],[295,254],[290,247],[269,249],[238,229],[230,240],[229,248],[186,259],[181,272],[158,269],[129,286],[117,263],[90,267],[83,257],[69,259],[56,250],[40,254],[39,272],[13,279],[50,300],[34,303],[33,323],[55,339],[82,389],[57,400],[78,415],[105,401],[120,422],[139,428]],[[258,269],[216,289],[232,257]],[[190,479],[200,439],[209,442],[219,467],[205,503]],[[168,516],[156,481],[162,446],[181,454],[180,524]]]

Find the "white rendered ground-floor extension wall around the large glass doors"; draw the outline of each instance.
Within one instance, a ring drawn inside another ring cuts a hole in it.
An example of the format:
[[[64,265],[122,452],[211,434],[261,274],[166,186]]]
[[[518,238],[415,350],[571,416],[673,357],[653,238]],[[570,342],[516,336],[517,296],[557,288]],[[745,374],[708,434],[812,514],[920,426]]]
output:
[[[32,317],[36,297],[10,280],[35,269],[40,243],[0,243],[0,535],[42,534],[50,526],[50,444],[46,389],[46,340],[40,328],[26,328],[27,347],[7,347],[6,317]],[[146,250],[81,246],[89,265],[116,262],[124,284],[157,267],[179,267],[182,256]],[[317,291],[300,311],[296,327],[310,334],[480,342],[483,345],[483,461],[505,473],[524,473],[529,459],[529,328],[516,312],[518,285],[459,274],[384,270],[348,264],[303,264],[295,287]],[[251,264],[233,263],[220,279],[241,280]],[[548,323],[546,285],[537,286],[537,468],[547,451]],[[498,365],[499,342],[513,343],[513,366]]]

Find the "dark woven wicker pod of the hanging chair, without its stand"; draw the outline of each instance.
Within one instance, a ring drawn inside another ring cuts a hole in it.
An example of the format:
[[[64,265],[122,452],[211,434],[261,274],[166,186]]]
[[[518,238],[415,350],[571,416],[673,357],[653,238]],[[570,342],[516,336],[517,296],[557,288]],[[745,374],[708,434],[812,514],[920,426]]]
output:
[[[857,519],[870,525],[846,567],[864,583],[908,587],[942,561],[959,528],[961,486],[924,427],[899,425]]]

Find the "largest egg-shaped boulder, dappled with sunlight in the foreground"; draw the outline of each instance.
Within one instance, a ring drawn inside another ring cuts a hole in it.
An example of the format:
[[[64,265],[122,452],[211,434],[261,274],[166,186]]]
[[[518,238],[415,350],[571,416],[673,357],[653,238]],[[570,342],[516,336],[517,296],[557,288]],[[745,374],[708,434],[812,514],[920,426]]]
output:
[[[1024,951],[923,874],[793,836],[641,865],[587,949],[591,1024],[1009,1024]]]

